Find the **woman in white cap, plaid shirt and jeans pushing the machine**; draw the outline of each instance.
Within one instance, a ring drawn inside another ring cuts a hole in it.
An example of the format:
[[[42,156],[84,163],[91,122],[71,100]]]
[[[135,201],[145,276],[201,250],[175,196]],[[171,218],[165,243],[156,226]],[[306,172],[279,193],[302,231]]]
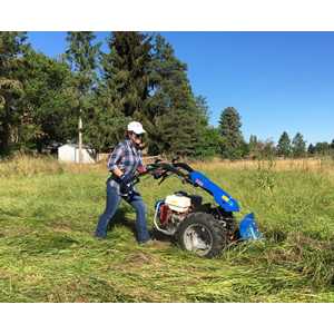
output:
[[[136,170],[143,173],[145,167],[141,160],[143,136],[146,131],[138,121],[131,121],[127,127],[126,140],[119,143],[108,160],[108,169],[111,176],[107,180],[107,205],[100,216],[96,237],[106,238],[109,222],[112,219],[121,199],[130,204],[137,214],[136,229],[139,244],[150,242],[146,223],[146,206],[139,193],[135,191],[131,178]]]

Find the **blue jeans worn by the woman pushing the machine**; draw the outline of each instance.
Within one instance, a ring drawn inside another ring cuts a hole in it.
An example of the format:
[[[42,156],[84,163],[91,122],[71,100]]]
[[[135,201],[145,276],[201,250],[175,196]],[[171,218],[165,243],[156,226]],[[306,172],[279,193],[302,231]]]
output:
[[[107,205],[105,213],[100,216],[95,235],[100,238],[107,236],[107,229],[109,222],[115,216],[117,208],[119,207],[120,200],[124,198],[128,204],[130,204],[137,214],[136,218],[136,229],[138,243],[145,243],[150,239],[149,233],[147,230],[146,224],[146,206],[143,202],[141,196],[136,193],[130,198],[121,197],[116,187],[110,186],[107,181]]]

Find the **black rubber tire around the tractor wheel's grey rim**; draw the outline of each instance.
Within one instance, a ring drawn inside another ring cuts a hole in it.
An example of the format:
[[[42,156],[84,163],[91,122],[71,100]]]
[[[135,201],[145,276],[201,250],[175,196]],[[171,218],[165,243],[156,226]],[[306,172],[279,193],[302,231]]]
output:
[[[209,253],[202,257],[213,258],[215,256],[218,256],[222,253],[222,250],[226,248],[228,244],[228,232],[226,230],[226,228],[224,228],[222,223],[219,223],[217,219],[215,219],[215,217],[213,217],[209,214],[194,213],[190,214],[187,218],[185,218],[184,222],[179,224],[176,233],[177,243],[184,250],[187,250],[184,244],[184,234],[186,229],[193,224],[204,225],[210,232],[213,237],[212,249],[209,250]]]

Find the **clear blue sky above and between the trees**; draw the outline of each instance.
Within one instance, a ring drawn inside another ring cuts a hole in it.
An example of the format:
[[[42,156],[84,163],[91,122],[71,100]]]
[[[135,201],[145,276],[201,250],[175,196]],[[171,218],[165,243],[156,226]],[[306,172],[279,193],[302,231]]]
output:
[[[277,140],[286,130],[307,143],[334,139],[334,32],[161,32],[188,65],[210,124],[235,107],[243,132]],[[104,41],[106,32],[97,32]],[[49,56],[65,51],[65,32],[30,32]]]

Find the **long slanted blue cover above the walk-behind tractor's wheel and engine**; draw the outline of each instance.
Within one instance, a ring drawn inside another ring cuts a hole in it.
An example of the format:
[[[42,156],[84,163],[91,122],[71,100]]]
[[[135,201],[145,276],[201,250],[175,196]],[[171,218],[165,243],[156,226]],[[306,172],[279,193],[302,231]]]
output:
[[[237,213],[240,210],[239,205],[236,199],[234,199],[229,194],[223,190],[219,186],[214,184],[208,177],[204,174],[194,170],[189,174],[191,181],[203,189],[209,191],[215,202],[223,207],[227,213]]]

